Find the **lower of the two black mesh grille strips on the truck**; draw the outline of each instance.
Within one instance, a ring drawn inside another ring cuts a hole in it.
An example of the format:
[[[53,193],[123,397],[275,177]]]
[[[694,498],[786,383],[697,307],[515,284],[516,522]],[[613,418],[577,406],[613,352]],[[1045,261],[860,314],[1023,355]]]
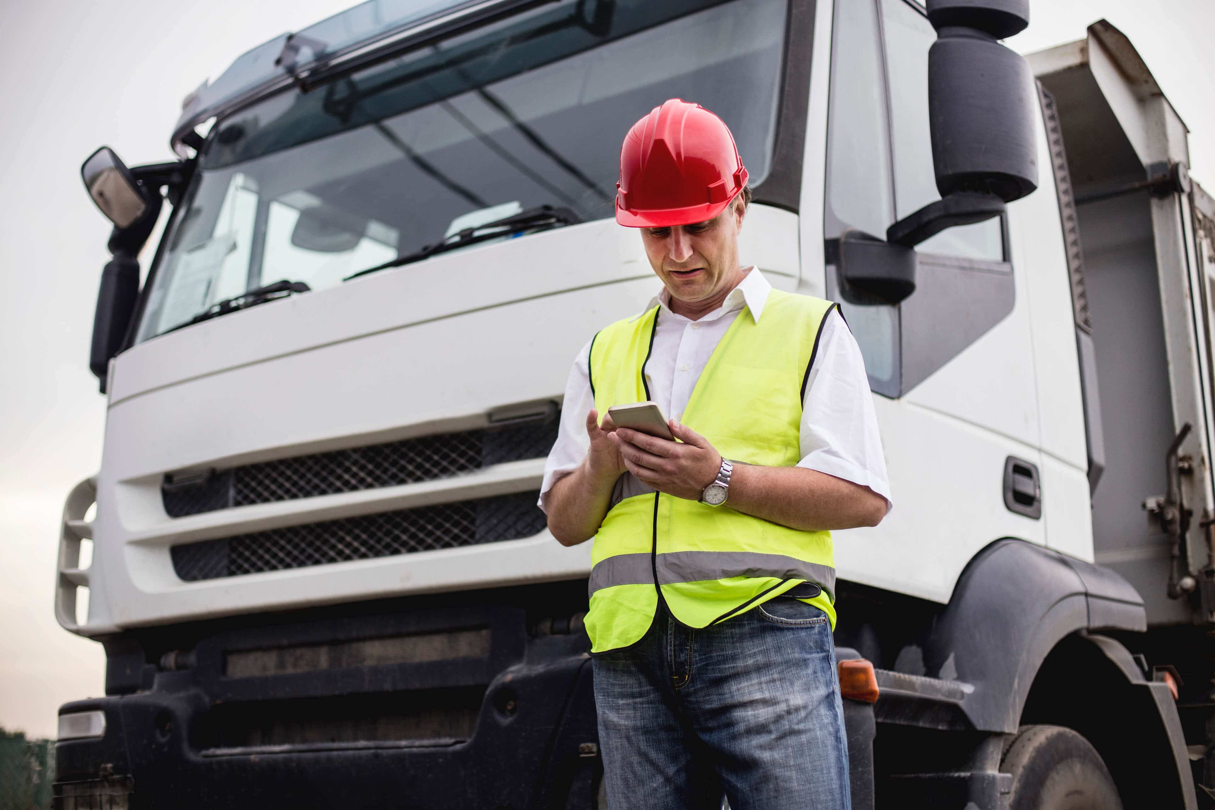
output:
[[[546,526],[539,492],[273,528],[170,549],[187,582],[388,557],[532,537]]]

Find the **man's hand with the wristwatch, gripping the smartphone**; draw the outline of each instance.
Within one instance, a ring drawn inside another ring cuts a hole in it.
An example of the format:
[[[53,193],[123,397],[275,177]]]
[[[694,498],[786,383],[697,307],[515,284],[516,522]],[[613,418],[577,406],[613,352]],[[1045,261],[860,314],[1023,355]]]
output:
[[[622,424],[612,421],[608,438],[615,443],[625,469],[643,483],[677,498],[700,500],[705,487],[717,478],[720,453],[690,427],[663,419],[652,402],[614,406],[608,409],[604,426],[614,417]],[[655,435],[662,429],[669,438]]]

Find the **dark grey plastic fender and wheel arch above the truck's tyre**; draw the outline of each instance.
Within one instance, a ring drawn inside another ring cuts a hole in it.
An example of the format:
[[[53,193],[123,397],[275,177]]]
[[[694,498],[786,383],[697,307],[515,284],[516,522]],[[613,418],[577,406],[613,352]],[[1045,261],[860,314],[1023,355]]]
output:
[[[1128,808],[1196,808],[1172,695],[1098,633],[1146,629],[1143,600],[1118,573],[1004,538],[959,577],[923,662],[926,674],[971,687],[961,708],[976,730],[1074,727],[1106,759]],[[1162,803],[1160,789],[1171,791],[1171,803]]]

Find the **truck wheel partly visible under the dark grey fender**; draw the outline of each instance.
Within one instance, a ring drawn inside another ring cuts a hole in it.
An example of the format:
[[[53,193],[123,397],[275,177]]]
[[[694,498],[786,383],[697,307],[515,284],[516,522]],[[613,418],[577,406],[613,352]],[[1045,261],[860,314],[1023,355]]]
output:
[[[1101,754],[1063,726],[1022,726],[1004,753],[1008,810],[1123,810]]]

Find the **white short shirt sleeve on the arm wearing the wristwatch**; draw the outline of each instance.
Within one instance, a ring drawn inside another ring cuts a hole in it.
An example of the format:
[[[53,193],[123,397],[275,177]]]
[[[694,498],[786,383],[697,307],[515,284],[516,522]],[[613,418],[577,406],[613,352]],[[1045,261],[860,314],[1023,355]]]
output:
[[[804,466],[869,487],[894,506],[865,359],[837,310],[827,313],[806,385],[801,424]]]

